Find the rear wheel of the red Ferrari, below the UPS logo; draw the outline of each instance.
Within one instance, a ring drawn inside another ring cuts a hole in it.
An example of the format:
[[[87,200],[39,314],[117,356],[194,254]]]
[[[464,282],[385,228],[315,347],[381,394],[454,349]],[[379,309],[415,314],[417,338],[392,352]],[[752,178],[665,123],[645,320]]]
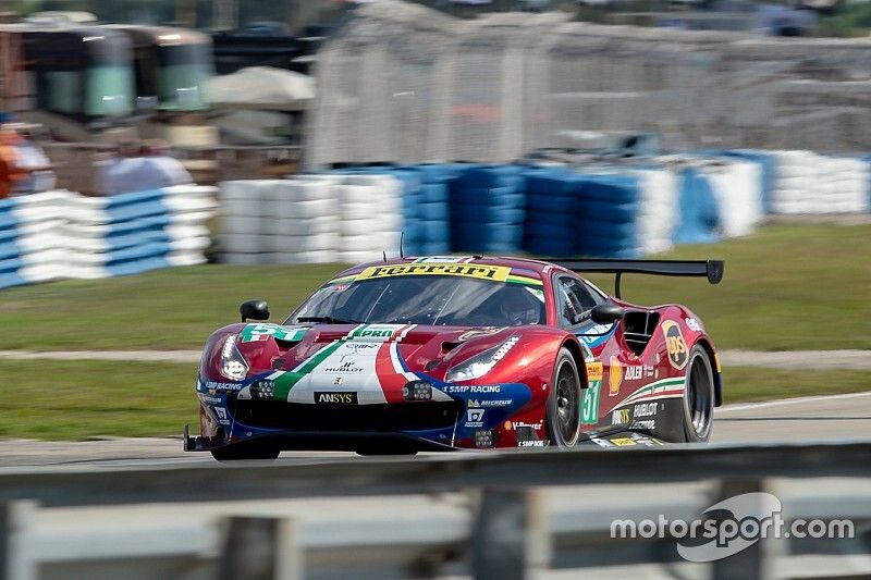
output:
[[[707,442],[714,420],[714,372],[708,353],[698,344],[689,351],[683,402],[685,441]]]

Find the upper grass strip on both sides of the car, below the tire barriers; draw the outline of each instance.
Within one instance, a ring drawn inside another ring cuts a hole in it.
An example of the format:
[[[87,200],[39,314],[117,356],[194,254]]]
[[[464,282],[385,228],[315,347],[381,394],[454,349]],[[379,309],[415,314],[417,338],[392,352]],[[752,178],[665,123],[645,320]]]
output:
[[[871,225],[773,225],[663,258],[724,258],[723,283],[625,276],[624,297],[679,303],[720,348],[871,348]],[[281,320],[340,266],[198,266],[0,292],[0,349],[198,348],[267,298]],[[594,276],[604,289],[611,280]]]

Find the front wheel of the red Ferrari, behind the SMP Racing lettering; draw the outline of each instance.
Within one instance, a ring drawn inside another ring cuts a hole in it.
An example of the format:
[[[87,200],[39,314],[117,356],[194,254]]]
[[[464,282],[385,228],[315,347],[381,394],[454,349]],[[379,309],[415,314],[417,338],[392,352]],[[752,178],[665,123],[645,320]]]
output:
[[[580,379],[572,353],[563,347],[553,366],[547,403],[548,436],[554,447],[573,447],[580,437]]]

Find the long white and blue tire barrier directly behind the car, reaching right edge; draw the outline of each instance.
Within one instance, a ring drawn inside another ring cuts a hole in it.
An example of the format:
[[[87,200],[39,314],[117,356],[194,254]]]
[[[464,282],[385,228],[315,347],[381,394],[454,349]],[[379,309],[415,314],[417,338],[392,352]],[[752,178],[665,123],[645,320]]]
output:
[[[379,164],[228,182],[224,258],[378,260],[397,252],[401,232],[406,256],[629,258],[747,235],[766,213],[868,211],[871,197],[869,159],[807,151],[535,162]]]

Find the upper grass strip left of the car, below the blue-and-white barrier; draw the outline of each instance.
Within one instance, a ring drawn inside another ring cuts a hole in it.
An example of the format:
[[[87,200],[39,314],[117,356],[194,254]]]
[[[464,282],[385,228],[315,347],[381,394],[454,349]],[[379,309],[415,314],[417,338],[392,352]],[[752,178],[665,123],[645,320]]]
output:
[[[200,348],[238,322],[243,300],[268,298],[283,320],[341,269],[208,264],[10,288],[0,292],[0,349]]]

